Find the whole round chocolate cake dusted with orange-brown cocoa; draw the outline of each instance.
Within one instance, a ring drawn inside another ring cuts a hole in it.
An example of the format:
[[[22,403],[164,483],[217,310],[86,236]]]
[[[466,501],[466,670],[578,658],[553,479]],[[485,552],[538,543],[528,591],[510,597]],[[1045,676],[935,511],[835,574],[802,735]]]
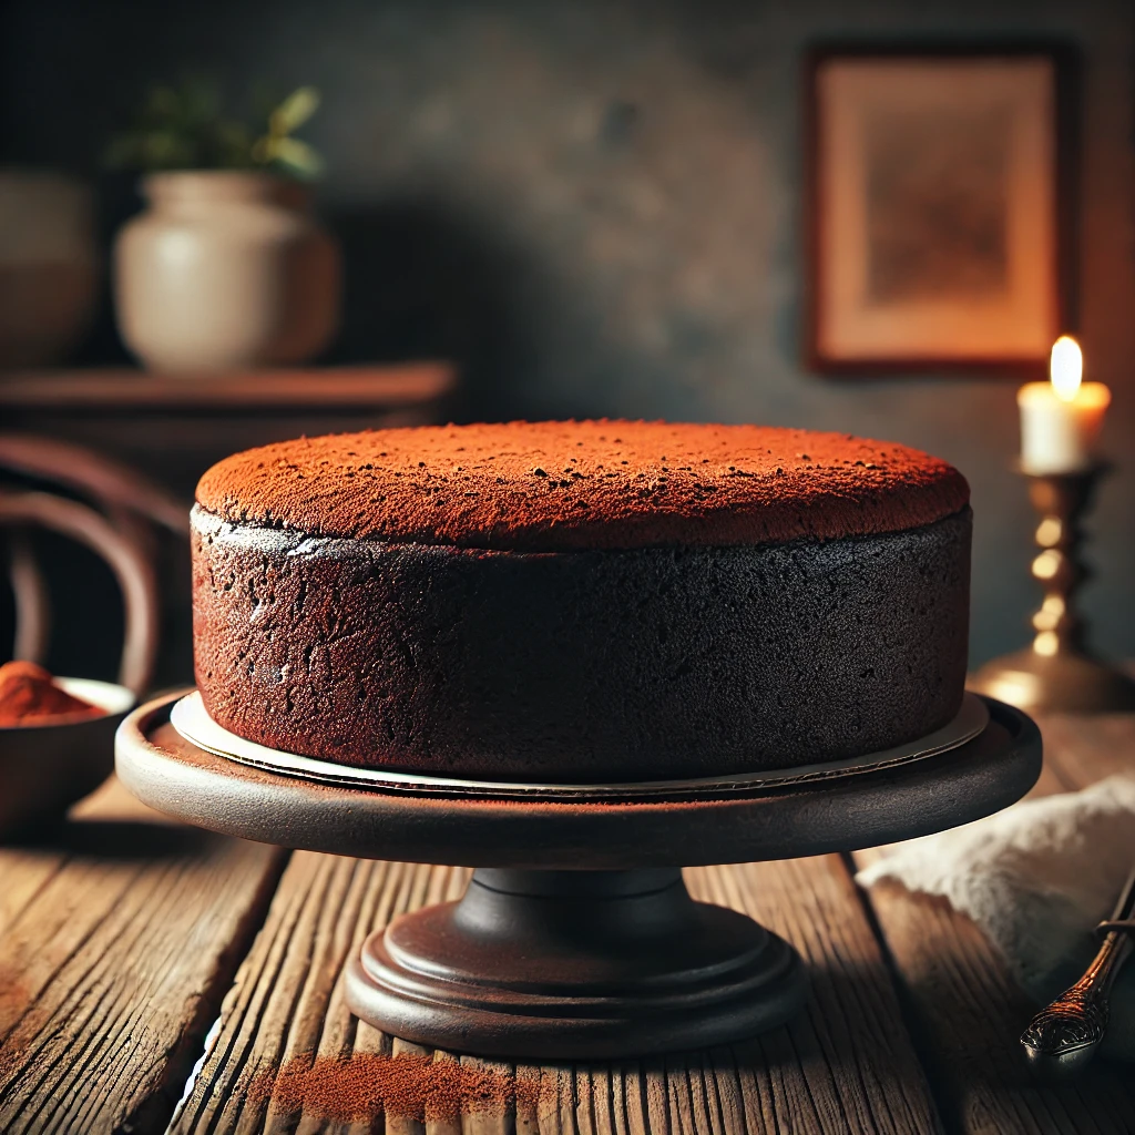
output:
[[[269,445],[197,487],[197,686],[249,740],[437,775],[874,753],[960,706],[968,495],[900,445],[753,426]]]

